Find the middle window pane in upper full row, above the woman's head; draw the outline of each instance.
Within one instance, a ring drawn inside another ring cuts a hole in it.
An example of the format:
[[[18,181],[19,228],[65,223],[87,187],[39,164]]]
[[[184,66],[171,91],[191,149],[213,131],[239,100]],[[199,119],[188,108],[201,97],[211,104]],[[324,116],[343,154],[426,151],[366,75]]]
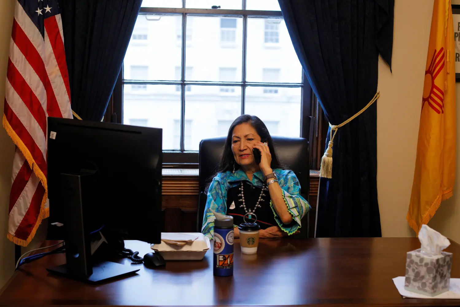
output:
[[[189,16],[189,19],[200,35],[185,45],[186,64],[193,67],[193,75],[185,74],[186,79],[219,81],[219,66],[224,62],[226,67],[236,68],[235,77],[225,81],[241,81],[242,18]]]

